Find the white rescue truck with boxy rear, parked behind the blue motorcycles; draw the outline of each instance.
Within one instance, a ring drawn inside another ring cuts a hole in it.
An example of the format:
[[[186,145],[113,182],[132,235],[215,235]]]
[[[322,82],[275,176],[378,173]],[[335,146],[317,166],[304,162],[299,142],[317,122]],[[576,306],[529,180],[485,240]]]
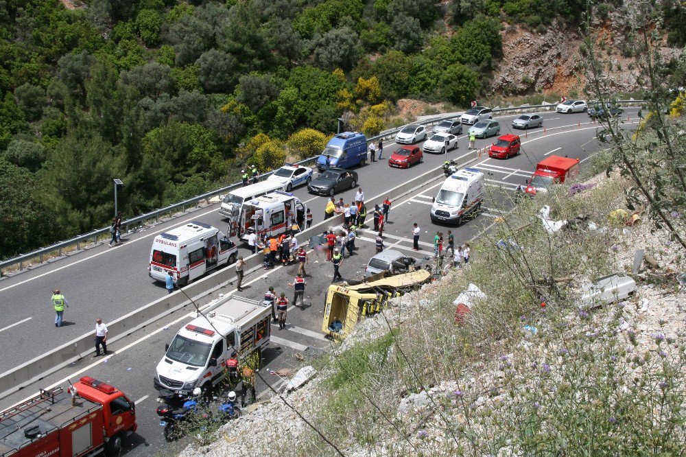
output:
[[[245,358],[254,351],[260,357],[272,333],[271,305],[228,295],[211,304],[206,317],[184,325],[157,365],[156,389],[187,395],[194,388],[216,386],[226,375],[226,361],[236,351]]]

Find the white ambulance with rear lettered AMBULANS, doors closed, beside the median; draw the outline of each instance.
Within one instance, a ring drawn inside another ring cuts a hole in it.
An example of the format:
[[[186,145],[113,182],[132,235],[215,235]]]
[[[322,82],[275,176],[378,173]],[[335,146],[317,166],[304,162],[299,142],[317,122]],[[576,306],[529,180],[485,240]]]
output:
[[[194,220],[155,237],[148,271],[157,281],[166,281],[171,271],[175,284],[186,285],[217,266],[235,262],[237,255],[238,247],[224,233]]]

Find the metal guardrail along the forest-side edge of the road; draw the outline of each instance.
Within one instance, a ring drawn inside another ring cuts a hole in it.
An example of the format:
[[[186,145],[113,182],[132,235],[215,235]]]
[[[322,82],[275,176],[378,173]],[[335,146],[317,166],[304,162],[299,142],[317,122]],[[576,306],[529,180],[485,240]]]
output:
[[[642,104],[645,103],[645,100],[619,100],[616,103],[617,104]],[[589,104],[594,103],[593,101],[590,101]],[[508,106],[507,108],[495,108],[493,109],[493,113],[497,114],[508,114],[508,113],[527,113],[531,111],[541,111],[541,110],[551,110],[554,109],[557,106],[557,104],[541,104],[541,105],[521,105],[521,106]],[[440,121],[443,121],[445,119],[453,119],[455,118],[456,115],[455,113],[451,113],[451,115],[438,115],[438,117],[431,118],[431,119],[425,119],[423,121],[417,122],[417,124],[421,124],[424,126],[434,126],[438,124]],[[388,139],[389,137],[394,136],[397,132],[399,132],[402,129],[402,127],[399,128],[394,128],[392,130],[388,130],[386,132],[383,132],[382,134],[379,134],[375,137],[370,137],[367,139],[369,143],[372,141],[378,141],[378,140],[384,140]],[[304,159],[303,161],[296,162],[299,165],[305,165],[307,163],[313,162],[317,159],[318,156],[313,156],[309,157],[307,159]],[[259,177],[260,179],[268,178],[274,171],[272,170],[271,172],[267,172],[265,174],[261,174]],[[184,200],[179,203],[175,204],[170,204],[167,207],[161,208],[161,209],[156,209],[154,211],[150,211],[150,213],[145,213],[141,214],[139,216],[136,216],[135,218],[128,219],[126,221],[122,221],[121,224],[124,229],[126,229],[129,226],[142,226],[143,223],[149,221],[149,220],[155,220],[155,222],[158,222],[160,219],[160,216],[167,215],[169,214],[169,217],[171,218],[174,213],[178,212],[180,210],[181,213],[185,213],[186,209],[193,207],[193,209],[198,208],[200,202],[202,200],[209,200],[210,198],[213,198],[215,196],[218,196],[220,194],[225,194],[226,192],[232,191],[233,189],[237,189],[241,187],[242,183],[234,183],[230,184],[228,186],[220,187],[219,189],[215,189],[210,192],[206,192],[205,194],[195,196],[193,198],[189,198],[188,200]],[[98,242],[98,237],[104,237],[109,235],[109,227],[105,227],[104,229],[98,229],[91,231],[89,233],[86,233],[84,235],[79,235],[78,237],[73,237],[71,239],[67,239],[66,241],[59,242],[56,244],[53,244],[51,246],[47,246],[45,248],[40,248],[37,250],[32,251],[31,253],[26,253],[19,255],[17,257],[14,257],[12,259],[8,259],[5,261],[0,261],[0,277],[3,276],[3,269],[6,269],[11,266],[15,266],[16,264],[19,264],[19,270],[23,270],[24,263],[27,261],[35,261],[38,259],[39,263],[43,263],[43,259],[46,255],[49,255],[51,253],[58,253],[58,257],[62,257],[62,251],[71,248],[72,246],[76,245],[76,250],[80,250],[82,247],[82,244],[86,245],[97,245]]]

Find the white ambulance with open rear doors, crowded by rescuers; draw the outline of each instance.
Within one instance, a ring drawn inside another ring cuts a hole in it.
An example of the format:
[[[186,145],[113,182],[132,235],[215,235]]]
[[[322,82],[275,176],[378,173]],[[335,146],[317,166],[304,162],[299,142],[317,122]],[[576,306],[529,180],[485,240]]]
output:
[[[274,191],[244,202],[239,219],[229,225],[230,236],[247,242],[250,233],[270,237],[287,232],[294,222],[301,228],[305,222],[305,203],[290,192]]]

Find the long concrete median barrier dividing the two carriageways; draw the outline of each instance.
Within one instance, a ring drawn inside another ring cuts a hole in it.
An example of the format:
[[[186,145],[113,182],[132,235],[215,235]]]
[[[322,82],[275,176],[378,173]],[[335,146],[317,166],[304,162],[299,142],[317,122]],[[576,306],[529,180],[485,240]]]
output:
[[[460,167],[467,165],[477,159],[477,152],[468,152],[463,154],[461,159],[464,161],[460,162]],[[368,198],[367,202],[372,202],[374,200],[381,200],[386,196],[389,196],[391,200],[395,200],[405,194],[409,194],[412,191],[420,189],[427,183],[436,180],[443,176],[443,170],[441,167],[431,169],[428,172],[417,176],[414,179],[402,183],[383,192],[372,198]],[[335,225],[333,220],[323,220],[318,224],[314,224],[311,228],[302,231],[298,234],[298,237],[305,237],[309,239],[314,235],[319,235],[328,226]],[[252,272],[262,268],[263,256],[261,253],[253,254],[244,259],[246,261],[245,275],[246,279],[248,275]],[[237,277],[235,275],[235,270],[233,266],[226,266],[209,276],[203,277],[190,283],[183,288],[185,294],[193,299],[193,301],[198,301],[200,298],[215,292],[216,290],[224,287],[230,282],[236,281]],[[166,292],[166,291],[165,291]],[[169,316],[174,312],[184,311],[189,312],[194,310],[195,307],[191,301],[186,298],[186,295],[180,291],[176,291],[173,294],[168,294],[163,296],[152,303],[149,303],[141,309],[130,312],[125,316],[121,316],[113,322],[106,323],[108,327],[108,346],[112,347],[112,344],[129,336],[134,331],[142,329],[147,325],[154,323],[165,316]],[[185,309],[188,308],[188,309]],[[93,332],[86,333],[79,338],[75,338],[62,346],[49,351],[43,355],[39,360],[32,360],[12,368],[12,370],[5,371],[5,373],[0,374],[0,398],[10,395],[17,390],[28,386],[36,381],[40,381],[43,377],[58,371],[60,368],[67,366],[77,360],[80,360],[95,351],[95,323],[93,323]]]

